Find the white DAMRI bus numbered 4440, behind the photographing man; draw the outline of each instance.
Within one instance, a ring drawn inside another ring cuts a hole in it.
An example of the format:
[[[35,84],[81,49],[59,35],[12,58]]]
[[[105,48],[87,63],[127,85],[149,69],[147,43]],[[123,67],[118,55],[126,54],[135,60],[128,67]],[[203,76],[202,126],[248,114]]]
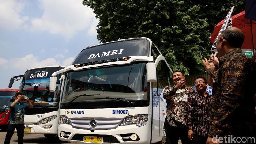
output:
[[[56,136],[61,86],[60,82],[57,82],[56,91],[50,92],[49,84],[52,73],[63,68],[63,66],[33,68],[28,69],[24,75],[11,78],[9,87],[12,87],[14,78],[23,78],[19,92],[26,95],[33,104],[32,109],[25,111],[25,133],[44,134],[48,138]]]

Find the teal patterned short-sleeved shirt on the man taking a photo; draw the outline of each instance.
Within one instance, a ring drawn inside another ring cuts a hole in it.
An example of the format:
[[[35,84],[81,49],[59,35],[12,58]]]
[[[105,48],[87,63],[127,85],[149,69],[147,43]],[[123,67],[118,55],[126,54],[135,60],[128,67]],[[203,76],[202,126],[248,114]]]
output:
[[[9,107],[11,105],[9,103]],[[24,124],[24,113],[25,113],[25,108],[28,108],[29,104],[27,103],[16,103],[14,107],[11,108],[11,113],[9,116],[10,124]]]

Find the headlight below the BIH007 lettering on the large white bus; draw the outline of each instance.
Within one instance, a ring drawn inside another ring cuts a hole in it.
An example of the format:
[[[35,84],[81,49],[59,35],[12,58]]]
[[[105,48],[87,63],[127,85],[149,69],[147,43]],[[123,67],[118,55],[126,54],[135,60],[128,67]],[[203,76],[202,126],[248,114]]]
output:
[[[128,115],[121,122],[121,125],[143,126],[147,124],[147,120],[148,120],[148,114]]]

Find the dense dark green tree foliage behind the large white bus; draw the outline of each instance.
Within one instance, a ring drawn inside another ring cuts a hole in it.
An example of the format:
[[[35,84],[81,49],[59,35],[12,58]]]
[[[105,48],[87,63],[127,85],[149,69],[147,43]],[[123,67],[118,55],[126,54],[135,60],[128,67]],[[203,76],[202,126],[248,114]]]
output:
[[[240,0],[84,0],[99,19],[101,42],[137,36],[150,38],[170,67],[185,75],[203,72],[202,57],[210,57],[209,37],[232,5]]]

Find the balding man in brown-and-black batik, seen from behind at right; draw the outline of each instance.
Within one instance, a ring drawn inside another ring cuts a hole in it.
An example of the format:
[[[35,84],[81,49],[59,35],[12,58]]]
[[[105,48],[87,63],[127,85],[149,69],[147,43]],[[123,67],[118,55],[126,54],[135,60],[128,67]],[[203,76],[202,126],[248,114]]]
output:
[[[216,45],[220,57],[219,70],[214,70],[206,58],[202,60],[206,72],[216,80],[210,104],[207,144],[230,143],[232,137],[240,137],[239,140],[254,137],[256,140],[253,99],[256,92],[256,63],[242,53],[240,48],[243,42],[244,33],[240,29],[226,29],[218,36]],[[219,137],[222,138],[218,142],[215,138]]]

